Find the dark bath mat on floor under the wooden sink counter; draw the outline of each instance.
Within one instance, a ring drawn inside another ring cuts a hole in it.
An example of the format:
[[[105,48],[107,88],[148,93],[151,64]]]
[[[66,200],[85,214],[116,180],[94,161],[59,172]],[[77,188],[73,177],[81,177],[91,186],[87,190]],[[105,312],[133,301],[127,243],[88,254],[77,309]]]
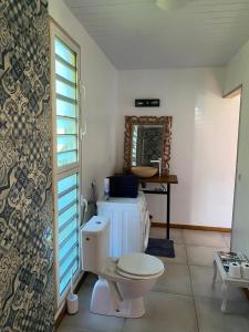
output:
[[[148,247],[145,251],[148,255],[175,258],[174,241],[167,239],[148,239]]]

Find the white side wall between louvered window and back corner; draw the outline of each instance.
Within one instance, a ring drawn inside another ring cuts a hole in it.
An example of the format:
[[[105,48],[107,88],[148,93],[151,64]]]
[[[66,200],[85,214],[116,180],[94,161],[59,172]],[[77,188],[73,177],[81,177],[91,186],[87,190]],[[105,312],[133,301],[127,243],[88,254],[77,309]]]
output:
[[[116,70],[70,12],[62,0],[49,1],[50,15],[80,44],[82,81],[86,100],[82,104],[87,134],[83,141],[83,195],[90,197],[91,183],[103,191],[103,178],[116,164],[115,112]]]

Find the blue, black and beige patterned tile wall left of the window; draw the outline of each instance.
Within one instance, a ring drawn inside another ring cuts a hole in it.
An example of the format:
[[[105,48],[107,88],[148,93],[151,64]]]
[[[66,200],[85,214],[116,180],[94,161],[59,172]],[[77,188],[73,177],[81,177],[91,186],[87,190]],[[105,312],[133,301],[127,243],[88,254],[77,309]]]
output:
[[[54,320],[46,0],[0,1],[0,331]]]

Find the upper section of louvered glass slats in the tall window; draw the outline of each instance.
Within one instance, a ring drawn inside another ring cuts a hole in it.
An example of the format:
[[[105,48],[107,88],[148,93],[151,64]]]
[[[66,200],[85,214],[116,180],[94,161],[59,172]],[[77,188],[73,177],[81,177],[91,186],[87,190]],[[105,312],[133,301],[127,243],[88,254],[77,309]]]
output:
[[[76,53],[55,37],[58,167],[79,162]]]

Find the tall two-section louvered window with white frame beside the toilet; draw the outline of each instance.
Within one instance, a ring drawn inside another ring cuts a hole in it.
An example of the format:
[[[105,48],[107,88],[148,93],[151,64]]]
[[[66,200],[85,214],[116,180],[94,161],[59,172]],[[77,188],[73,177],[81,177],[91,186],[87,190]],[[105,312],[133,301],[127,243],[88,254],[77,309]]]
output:
[[[55,256],[59,302],[80,272],[80,51],[52,29]]]

